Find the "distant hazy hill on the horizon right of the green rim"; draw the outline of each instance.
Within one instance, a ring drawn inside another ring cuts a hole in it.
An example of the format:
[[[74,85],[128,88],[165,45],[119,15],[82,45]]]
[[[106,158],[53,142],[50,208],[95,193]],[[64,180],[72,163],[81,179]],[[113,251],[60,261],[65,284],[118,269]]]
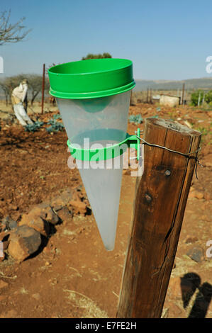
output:
[[[167,81],[167,80],[135,80],[135,91],[143,91],[149,89],[154,90],[177,90],[182,89],[182,84],[185,83],[186,90],[193,89],[212,89],[212,77],[202,79],[188,79],[182,81]]]

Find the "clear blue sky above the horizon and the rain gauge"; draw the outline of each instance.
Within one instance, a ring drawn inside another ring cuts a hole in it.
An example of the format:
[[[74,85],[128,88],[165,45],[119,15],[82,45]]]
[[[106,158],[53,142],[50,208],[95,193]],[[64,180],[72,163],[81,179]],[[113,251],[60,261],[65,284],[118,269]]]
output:
[[[43,63],[109,52],[133,61],[135,79],[211,77],[212,1],[1,0],[26,41],[0,46],[4,74],[42,73]]]

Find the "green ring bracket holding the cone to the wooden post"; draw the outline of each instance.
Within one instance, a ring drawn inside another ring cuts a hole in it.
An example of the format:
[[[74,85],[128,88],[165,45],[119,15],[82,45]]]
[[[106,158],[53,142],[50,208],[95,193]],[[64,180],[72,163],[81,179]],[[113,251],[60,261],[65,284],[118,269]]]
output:
[[[98,130],[103,133],[102,138],[105,139],[105,133],[112,133],[110,139],[114,139],[120,130]],[[80,135],[80,137],[90,137],[91,132],[84,132],[84,135]],[[89,134],[89,135],[88,135]],[[114,136],[115,135],[115,136]],[[108,136],[108,135],[107,135]],[[137,150],[137,159],[139,161],[140,158],[140,128],[137,130],[137,135],[129,135],[127,134],[125,140],[116,143],[115,145],[110,145],[109,147],[103,147],[99,149],[82,149],[80,145],[71,144],[69,140],[67,140],[67,145],[69,147],[70,153],[75,159],[80,161],[102,161],[106,159],[113,159],[117,156],[121,156],[128,147],[135,148]],[[96,144],[97,145],[97,144]]]

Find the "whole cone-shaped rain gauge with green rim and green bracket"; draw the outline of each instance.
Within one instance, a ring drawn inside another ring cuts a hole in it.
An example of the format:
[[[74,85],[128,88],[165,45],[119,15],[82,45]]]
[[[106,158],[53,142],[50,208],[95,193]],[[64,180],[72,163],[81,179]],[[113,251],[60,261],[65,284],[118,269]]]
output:
[[[140,144],[137,136],[127,134],[130,91],[135,86],[133,64],[116,58],[81,60],[51,67],[48,74],[50,94],[57,100],[67,145],[76,159],[101,239],[112,250],[123,152]]]

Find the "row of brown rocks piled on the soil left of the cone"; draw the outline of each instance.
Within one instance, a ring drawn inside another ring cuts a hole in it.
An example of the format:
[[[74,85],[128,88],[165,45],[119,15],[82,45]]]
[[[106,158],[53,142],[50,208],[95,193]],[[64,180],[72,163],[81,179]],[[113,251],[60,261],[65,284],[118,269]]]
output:
[[[21,262],[40,250],[43,240],[48,239],[59,223],[71,222],[74,214],[86,214],[88,201],[80,188],[67,189],[60,196],[35,205],[18,222],[7,216],[0,222],[0,241],[8,254]]]

